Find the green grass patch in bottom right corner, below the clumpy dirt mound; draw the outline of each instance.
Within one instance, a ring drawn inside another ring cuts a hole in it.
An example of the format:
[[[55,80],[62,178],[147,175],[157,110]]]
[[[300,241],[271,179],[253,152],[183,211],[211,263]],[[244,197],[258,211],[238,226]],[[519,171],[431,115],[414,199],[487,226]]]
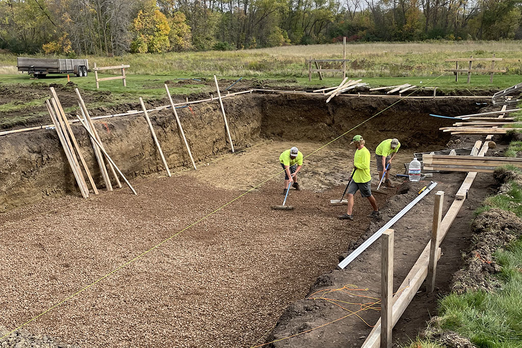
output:
[[[520,200],[519,200],[520,202]],[[440,302],[442,329],[456,331],[479,347],[522,346],[522,239],[494,254],[502,288],[450,294]]]

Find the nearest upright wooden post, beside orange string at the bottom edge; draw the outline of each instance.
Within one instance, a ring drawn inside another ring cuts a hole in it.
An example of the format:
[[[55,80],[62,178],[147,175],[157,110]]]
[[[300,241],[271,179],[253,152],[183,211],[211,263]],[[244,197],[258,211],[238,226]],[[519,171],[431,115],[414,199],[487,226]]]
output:
[[[394,230],[381,235],[381,348],[392,347]]]

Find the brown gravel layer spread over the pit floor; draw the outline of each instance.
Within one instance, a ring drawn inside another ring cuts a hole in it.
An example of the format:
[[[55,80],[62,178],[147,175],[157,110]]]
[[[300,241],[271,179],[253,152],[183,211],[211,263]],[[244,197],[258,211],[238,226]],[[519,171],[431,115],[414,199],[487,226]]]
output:
[[[343,186],[292,190],[294,211],[271,210],[283,198],[278,177],[179,233],[244,192],[198,171],[133,182],[137,196],[122,189],[0,214],[0,327],[13,330],[117,269],[24,329],[82,347],[250,347],[370,222],[358,195],[358,219],[339,223],[345,208],[328,201]]]

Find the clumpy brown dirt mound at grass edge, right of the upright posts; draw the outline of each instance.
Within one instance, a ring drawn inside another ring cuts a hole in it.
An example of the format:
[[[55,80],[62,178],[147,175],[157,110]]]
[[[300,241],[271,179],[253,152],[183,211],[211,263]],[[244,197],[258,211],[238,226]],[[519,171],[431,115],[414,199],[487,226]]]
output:
[[[491,291],[497,287],[491,275],[500,271],[493,253],[522,234],[522,220],[511,211],[491,209],[481,213],[472,223],[477,244],[473,245],[466,267],[455,273],[452,290],[458,294],[468,290]]]

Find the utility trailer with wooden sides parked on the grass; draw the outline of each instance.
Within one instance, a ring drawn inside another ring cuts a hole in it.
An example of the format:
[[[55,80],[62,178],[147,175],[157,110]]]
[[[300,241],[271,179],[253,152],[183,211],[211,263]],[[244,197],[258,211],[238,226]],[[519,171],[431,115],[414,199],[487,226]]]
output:
[[[78,77],[87,76],[89,62],[87,59],[63,59],[63,58],[16,58],[18,71],[27,71],[35,78],[44,77],[47,74],[76,74]]]

